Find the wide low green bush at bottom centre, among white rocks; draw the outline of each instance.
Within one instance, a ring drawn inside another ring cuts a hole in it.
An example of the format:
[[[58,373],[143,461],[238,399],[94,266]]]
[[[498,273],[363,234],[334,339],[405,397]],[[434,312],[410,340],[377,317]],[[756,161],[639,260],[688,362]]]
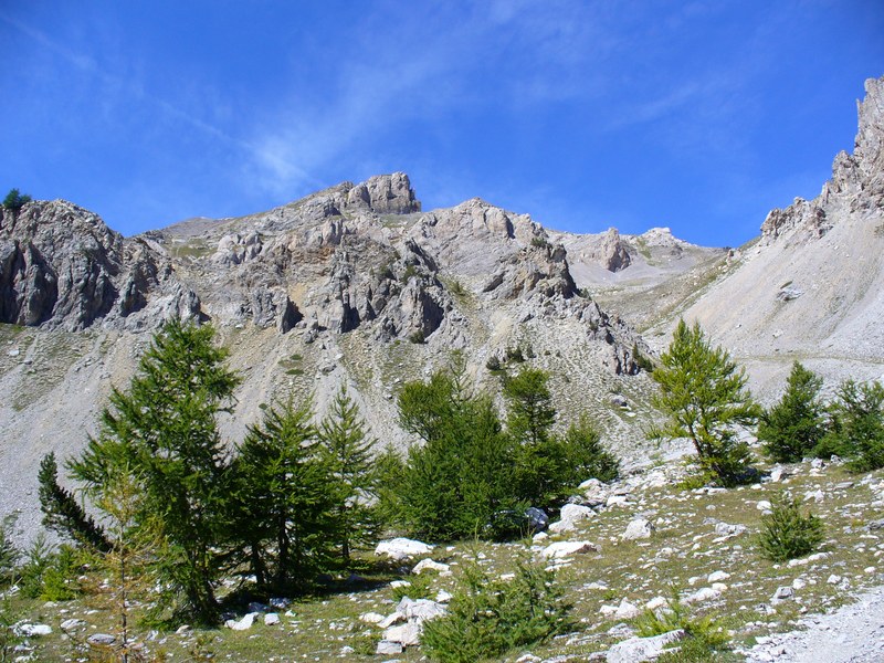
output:
[[[424,624],[421,645],[433,661],[474,663],[567,631],[571,604],[555,573],[522,560],[512,580],[464,569],[449,612]]]

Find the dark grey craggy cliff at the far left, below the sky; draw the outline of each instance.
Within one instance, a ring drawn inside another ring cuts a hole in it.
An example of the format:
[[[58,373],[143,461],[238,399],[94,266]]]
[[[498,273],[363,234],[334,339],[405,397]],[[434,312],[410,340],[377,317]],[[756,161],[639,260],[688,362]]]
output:
[[[0,322],[138,330],[199,314],[199,297],[148,240],[124,240],[97,215],[61,200],[0,212]]]

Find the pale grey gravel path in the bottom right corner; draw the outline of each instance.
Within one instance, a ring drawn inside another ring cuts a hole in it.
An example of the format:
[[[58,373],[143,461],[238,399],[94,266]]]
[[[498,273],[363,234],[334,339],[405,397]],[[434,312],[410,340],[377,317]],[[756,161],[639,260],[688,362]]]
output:
[[[880,663],[884,661],[884,587],[829,614],[807,617],[807,631],[777,633],[744,652],[751,663]]]

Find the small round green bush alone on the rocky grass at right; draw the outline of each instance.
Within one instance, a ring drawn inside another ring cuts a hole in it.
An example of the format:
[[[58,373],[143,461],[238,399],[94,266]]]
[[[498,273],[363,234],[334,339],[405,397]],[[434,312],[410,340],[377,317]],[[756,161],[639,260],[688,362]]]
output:
[[[823,540],[823,524],[813,514],[802,514],[798,499],[778,497],[771,513],[761,518],[758,545],[770,561],[810,555]]]

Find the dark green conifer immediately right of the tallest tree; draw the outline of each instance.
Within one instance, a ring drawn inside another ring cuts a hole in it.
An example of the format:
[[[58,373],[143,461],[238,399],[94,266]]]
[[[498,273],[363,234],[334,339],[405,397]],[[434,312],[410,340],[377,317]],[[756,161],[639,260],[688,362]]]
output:
[[[290,399],[264,410],[249,429],[234,463],[240,514],[236,528],[252,570],[277,590],[304,590],[333,555],[329,473],[311,424],[311,403]],[[273,555],[271,555],[273,551]]]

